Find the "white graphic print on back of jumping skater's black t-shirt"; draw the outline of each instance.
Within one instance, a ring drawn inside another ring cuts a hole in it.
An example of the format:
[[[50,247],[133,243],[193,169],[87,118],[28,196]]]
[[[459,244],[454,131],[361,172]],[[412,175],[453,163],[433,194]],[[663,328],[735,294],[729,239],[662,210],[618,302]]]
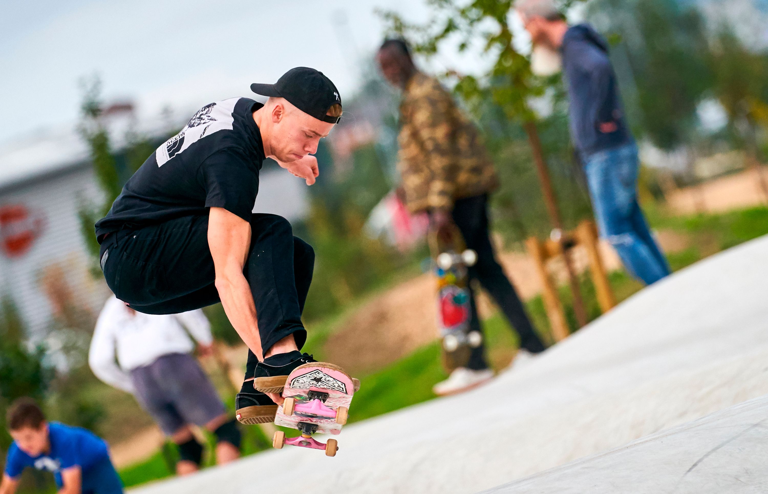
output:
[[[235,104],[240,100],[239,97],[232,97],[228,100],[217,101],[207,104],[197,110],[187,125],[181,129],[174,137],[161,144],[155,152],[157,166],[163,166],[178,153],[183,152],[197,140],[217,132],[218,130],[232,130],[234,121],[232,112]]]

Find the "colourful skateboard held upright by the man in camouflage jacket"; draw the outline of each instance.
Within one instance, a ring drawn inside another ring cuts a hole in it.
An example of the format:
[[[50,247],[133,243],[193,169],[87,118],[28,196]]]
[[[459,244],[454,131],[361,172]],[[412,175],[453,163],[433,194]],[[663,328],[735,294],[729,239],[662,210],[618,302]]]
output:
[[[429,249],[437,278],[437,322],[442,338],[443,363],[449,372],[463,367],[472,348],[482,344],[480,331],[470,331],[468,268],[477,262],[477,253],[466,249],[458,228],[452,233],[453,245],[443,245],[436,232],[429,237]]]

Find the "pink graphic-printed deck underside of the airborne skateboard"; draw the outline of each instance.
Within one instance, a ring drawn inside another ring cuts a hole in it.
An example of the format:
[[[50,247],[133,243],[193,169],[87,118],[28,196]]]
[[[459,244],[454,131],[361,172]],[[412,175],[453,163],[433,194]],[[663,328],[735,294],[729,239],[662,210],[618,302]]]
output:
[[[314,423],[317,433],[338,434],[343,424],[336,423],[336,410],[339,407],[349,409],[355,394],[354,386],[352,377],[336,365],[325,362],[300,365],[290,373],[283,389],[284,398],[296,400],[293,414],[287,416],[283,413],[283,405],[280,405],[275,424],[299,429],[300,422]],[[328,394],[328,397],[324,401],[310,399],[310,392],[313,395]]]

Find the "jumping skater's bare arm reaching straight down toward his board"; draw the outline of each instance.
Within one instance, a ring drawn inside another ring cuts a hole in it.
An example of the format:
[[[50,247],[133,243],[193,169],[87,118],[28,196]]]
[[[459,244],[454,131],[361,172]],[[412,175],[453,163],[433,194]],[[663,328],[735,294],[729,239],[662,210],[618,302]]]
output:
[[[243,266],[250,247],[250,223],[223,208],[210,208],[208,246],[216,268],[216,289],[233,328],[263,360],[256,306]]]

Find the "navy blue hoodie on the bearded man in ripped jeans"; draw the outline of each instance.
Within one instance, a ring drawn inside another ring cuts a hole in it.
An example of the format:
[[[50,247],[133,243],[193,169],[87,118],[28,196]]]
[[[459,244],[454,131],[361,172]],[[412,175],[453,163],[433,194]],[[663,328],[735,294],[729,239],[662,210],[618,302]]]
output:
[[[571,137],[582,159],[634,142],[624,121],[605,40],[590,25],[574,25],[565,32],[561,51],[571,105]],[[601,132],[598,125],[607,122],[615,122],[617,130]]]

